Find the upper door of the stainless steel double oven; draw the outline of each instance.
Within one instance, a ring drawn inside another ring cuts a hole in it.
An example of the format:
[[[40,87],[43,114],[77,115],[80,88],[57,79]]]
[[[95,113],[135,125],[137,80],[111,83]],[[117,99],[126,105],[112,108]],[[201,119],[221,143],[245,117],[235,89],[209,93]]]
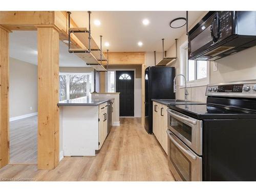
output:
[[[202,121],[167,109],[168,129],[198,155],[202,155]]]

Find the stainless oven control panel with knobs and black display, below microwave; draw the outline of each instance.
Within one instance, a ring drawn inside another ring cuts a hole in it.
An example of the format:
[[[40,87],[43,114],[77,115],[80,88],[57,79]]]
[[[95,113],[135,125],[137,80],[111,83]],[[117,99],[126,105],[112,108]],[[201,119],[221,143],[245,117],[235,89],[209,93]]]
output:
[[[208,85],[205,95],[256,98],[256,82]]]

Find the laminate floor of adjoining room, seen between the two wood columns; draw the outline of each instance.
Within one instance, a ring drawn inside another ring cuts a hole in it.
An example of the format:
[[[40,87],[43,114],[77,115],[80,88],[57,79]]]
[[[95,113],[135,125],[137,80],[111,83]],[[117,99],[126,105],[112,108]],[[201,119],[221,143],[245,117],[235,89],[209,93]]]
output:
[[[10,122],[10,164],[37,164],[37,116]]]

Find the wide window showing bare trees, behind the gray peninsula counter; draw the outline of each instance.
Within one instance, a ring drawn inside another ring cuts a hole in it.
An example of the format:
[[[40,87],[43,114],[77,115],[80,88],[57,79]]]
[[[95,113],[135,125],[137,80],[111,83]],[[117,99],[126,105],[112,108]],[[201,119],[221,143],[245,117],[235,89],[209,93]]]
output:
[[[59,100],[90,96],[92,73],[61,73],[59,75]]]

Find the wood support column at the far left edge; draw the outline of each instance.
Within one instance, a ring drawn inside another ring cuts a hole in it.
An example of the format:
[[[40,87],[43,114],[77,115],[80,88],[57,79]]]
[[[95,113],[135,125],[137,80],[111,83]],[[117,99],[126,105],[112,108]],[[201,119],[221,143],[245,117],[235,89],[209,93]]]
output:
[[[0,28],[0,168],[9,163],[9,31]]]

